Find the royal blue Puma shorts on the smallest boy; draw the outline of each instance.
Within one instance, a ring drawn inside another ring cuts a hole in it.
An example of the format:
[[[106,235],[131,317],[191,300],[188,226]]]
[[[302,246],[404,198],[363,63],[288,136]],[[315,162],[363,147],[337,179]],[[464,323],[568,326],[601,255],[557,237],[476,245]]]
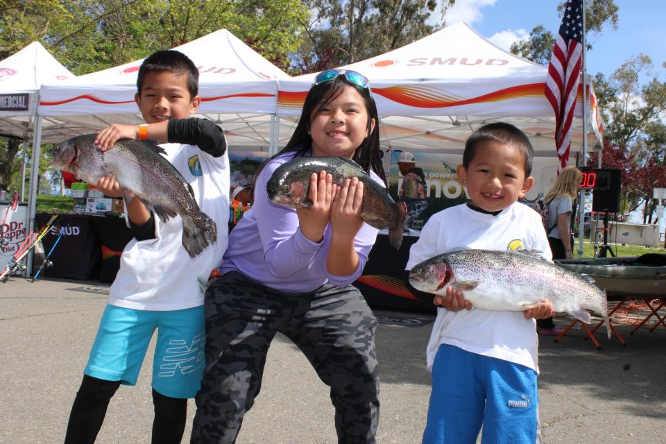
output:
[[[536,372],[442,344],[432,366],[424,444],[540,442]]]

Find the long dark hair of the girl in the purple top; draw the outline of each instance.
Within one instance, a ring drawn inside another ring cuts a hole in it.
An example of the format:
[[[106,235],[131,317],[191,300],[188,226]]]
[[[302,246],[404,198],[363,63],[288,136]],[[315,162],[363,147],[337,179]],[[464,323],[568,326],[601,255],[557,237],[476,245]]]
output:
[[[364,99],[366,110],[368,110],[368,133],[370,134],[363,142],[361,142],[361,145],[356,148],[352,160],[361,165],[361,168],[363,168],[366,173],[370,173],[370,169],[375,171],[377,176],[384,181],[384,185],[386,185],[386,173],[384,173],[384,166],[382,164],[382,153],[379,150],[379,116],[377,115],[375,99],[373,99],[368,88],[361,88],[354,83],[350,83],[345,76],[337,76],[330,82],[320,83],[319,85],[314,85],[310,88],[305,97],[305,103],[303,103],[303,109],[300,113],[298,125],[296,126],[296,130],[293,131],[291,139],[289,139],[287,145],[284,146],[279,153],[268,157],[268,159],[259,166],[254,176],[255,180],[264,166],[268,164],[268,162],[271,162],[275,157],[291,151],[296,151],[295,157],[298,157],[305,155],[305,153],[311,150],[312,137],[308,134],[308,130],[310,129],[310,115],[313,111],[315,114],[318,114],[321,108],[339,96],[343,88],[347,85],[355,88]],[[372,128],[372,119],[375,119],[374,129]]]

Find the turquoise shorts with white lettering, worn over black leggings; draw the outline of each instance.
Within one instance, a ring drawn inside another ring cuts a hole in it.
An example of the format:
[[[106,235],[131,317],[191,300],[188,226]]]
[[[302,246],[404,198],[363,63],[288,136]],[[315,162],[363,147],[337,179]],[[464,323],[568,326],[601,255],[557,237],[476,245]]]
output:
[[[205,367],[202,307],[174,311],[107,305],[83,373],[133,386],[157,330],[153,388],[171,398],[194,398]]]

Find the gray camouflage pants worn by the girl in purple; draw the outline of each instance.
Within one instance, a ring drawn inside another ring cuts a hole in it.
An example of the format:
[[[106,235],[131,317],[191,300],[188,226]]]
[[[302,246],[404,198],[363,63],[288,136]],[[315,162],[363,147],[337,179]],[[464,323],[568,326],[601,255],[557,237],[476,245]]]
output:
[[[191,443],[234,443],[262,385],[277,332],[305,354],[331,388],[338,442],[375,443],[379,420],[377,319],[351,285],[282,293],[241,273],[211,284],[205,297],[206,369],[196,395]]]

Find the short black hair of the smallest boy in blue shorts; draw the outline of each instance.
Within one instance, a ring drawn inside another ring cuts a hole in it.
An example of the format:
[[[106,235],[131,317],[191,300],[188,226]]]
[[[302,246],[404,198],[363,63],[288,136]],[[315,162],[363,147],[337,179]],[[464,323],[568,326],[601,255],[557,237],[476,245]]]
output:
[[[497,142],[499,144],[511,145],[522,151],[525,157],[525,177],[532,173],[532,159],[534,157],[534,148],[529,139],[521,130],[511,125],[511,123],[495,122],[481,126],[465,142],[465,151],[463,152],[463,167],[468,169],[474,155],[477,153],[479,145],[485,142]]]

